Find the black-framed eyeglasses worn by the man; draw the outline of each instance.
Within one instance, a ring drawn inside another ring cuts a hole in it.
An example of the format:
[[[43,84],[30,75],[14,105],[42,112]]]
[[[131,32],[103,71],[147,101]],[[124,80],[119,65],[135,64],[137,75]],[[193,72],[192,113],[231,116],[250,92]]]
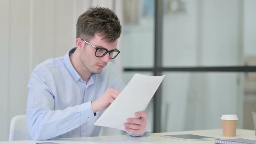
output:
[[[109,59],[115,59],[115,57],[120,53],[120,51],[118,49],[108,50],[108,49],[105,49],[105,48],[97,48],[96,46],[93,46],[92,44],[86,42],[85,40],[83,40],[83,41],[96,49],[96,51],[95,51],[95,56],[96,57],[103,57],[107,53],[109,53]]]

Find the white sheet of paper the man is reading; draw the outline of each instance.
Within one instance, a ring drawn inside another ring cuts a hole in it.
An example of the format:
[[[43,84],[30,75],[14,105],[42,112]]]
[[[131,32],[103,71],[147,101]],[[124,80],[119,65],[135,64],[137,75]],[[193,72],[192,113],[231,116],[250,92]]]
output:
[[[137,118],[136,112],[145,110],[164,76],[135,74],[94,125],[125,131],[124,123],[128,118]]]

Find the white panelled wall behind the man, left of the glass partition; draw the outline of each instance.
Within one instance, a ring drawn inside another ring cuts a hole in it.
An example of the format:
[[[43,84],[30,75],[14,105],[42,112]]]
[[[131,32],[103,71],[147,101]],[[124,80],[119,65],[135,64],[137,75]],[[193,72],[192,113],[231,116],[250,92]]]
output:
[[[26,114],[34,67],[75,46],[78,16],[96,5],[115,6],[113,0],[0,0],[0,141],[8,140],[11,118]]]

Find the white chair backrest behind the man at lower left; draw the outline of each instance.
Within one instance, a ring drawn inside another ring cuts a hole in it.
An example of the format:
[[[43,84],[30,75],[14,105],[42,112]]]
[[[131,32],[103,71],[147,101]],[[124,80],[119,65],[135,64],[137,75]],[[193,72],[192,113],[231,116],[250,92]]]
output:
[[[28,140],[29,132],[26,124],[26,115],[16,115],[10,124],[9,141]]]

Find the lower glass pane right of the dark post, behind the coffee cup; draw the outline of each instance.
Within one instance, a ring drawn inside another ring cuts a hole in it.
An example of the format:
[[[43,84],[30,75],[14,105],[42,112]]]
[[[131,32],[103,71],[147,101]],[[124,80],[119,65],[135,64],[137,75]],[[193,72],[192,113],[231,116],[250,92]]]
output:
[[[162,84],[162,132],[222,128],[220,117],[225,114],[238,115],[237,128],[253,129],[251,112],[256,108],[253,107],[256,105],[256,91],[251,93],[251,105],[245,104],[249,101],[244,94],[244,73],[164,74],[166,76]],[[255,89],[255,84],[249,86]],[[251,123],[244,127],[245,121]]]

